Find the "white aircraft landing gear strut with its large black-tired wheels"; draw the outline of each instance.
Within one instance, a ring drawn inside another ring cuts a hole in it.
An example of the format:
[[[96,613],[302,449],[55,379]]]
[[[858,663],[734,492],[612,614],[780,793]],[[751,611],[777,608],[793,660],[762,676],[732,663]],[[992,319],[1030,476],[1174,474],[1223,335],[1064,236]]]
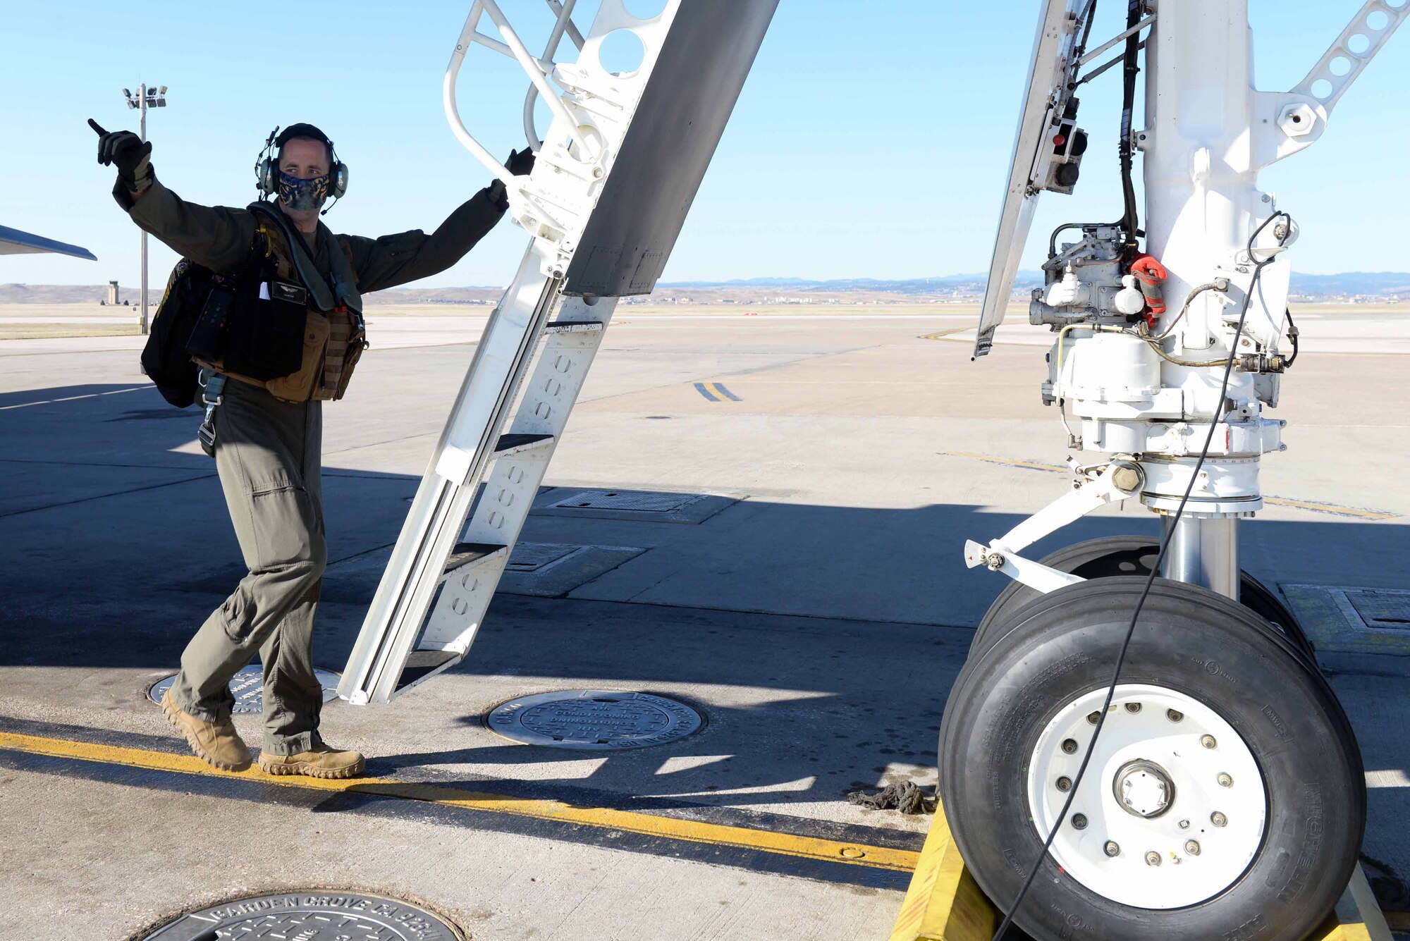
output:
[[[1089,52],[1094,7],[1043,6],[974,351],[1038,194],[1077,182],[1074,92],[1112,66],[1124,213],[1055,231],[1029,301],[1055,334],[1043,399],[1083,459],[1072,490],[964,547],[1014,582],[950,692],[940,796],[974,879],[1039,941],[1300,941],[1356,865],[1365,778],[1296,620],[1238,562],[1259,461],[1285,449],[1265,409],[1297,356],[1297,225],[1258,173],[1321,137],[1410,4],[1369,0],[1286,93],[1252,87],[1246,0],[1127,0],[1125,31]],[[1160,537],[1024,556],[1121,500],[1160,516]]]

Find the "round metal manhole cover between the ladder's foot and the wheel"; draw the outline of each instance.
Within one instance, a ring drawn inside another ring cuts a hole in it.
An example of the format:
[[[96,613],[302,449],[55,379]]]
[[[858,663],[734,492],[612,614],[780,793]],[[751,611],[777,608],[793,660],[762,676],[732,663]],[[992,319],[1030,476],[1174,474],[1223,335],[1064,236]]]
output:
[[[520,696],[489,713],[489,727],[505,738],[598,751],[673,742],[698,731],[704,721],[674,699],[611,689]]]

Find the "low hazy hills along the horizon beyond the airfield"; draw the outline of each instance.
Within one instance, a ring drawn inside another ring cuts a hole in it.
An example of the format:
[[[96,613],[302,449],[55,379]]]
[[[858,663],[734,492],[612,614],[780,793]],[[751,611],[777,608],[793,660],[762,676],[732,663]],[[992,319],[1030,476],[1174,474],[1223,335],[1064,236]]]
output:
[[[629,303],[695,304],[768,304],[768,303],[850,303],[901,304],[916,301],[979,301],[984,297],[986,276],[943,275],[881,280],[843,278],[809,280],[805,278],[746,278],[719,282],[668,282],[656,286],[650,297]],[[1042,272],[1018,272],[1015,296],[1026,296],[1043,283]],[[164,285],[149,285],[148,300],[157,303]],[[376,304],[494,304],[502,287],[393,287],[367,296]],[[121,296],[137,300],[137,290],[124,286]],[[97,304],[107,297],[107,285],[0,285],[3,304]],[[1410,273],[1347,272],[1342,275],[1300,275],[1293,272],[1292,297],[1300,301],[1394,303],[1410,301]]]

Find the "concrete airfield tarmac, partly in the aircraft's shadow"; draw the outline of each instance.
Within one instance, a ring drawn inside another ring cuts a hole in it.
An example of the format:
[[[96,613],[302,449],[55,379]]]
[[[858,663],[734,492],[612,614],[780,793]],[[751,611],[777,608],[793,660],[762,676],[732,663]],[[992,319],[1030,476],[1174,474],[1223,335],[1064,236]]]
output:
[[[1275,413],[1289,451],[1263,463],[1276,501],[1241,527],[1245,568],[1294,586],[1314,641],[1349,637],[1328,618],[1351,602],[1318,599],[1410,587],[1410,428],[1386,407],[1410,318],[1328,321],[1300,324]],[[1069,486],[1038,338],[1005,325],[971,363],[967,323],[620,309],[523,534],[588,549],[508,576],[447,675],[331,703],[326,735],[376,779],[344,790],[197,773],[147,699],[243,571],[196,411],[145,383],[138,338],[0,344],[0,885],[24,900],[0,906],[0,937],[124,938],[298,886],[420,899],[485,941],[887,937],[925,818],[846,793],[933,786],[946,692],[1004,585],[963,542]],[[321,668],[343,668],[482,324],[374,309],[351,394],[326,407]],[[684,521],[551,506],[585,489],[719,499]],[[1127,532],[1155,517],[1108,507],[1032,555]],[[1397,630],[1323,666],[1365,756],[1366,852],[1407,873]],[[561,689],[706,721],[609,754],[485,725]],[[237,725],[258,742],[254,717]]]

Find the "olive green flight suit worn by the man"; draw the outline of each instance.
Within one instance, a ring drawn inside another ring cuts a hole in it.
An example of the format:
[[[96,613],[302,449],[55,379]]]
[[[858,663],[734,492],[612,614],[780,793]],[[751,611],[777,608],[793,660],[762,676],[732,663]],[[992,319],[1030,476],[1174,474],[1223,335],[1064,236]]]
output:
[[[502,192],[501,192],[502,193]],[[237,273],[250,258],[255,217],[243,208],[188,203],[154,179],[133,199],[114,197],[142,230],[217,273]],[[488,232],[505,206],[489,187],[457,208],[430,235],[420,230],[376,239],[341,237],[361,292],[441,272]],[[319,273],[330,275],[323,224],[306,238]],[[313,314],[310,313],[310,317]],[[230,716],[230,679],[258,652],[264,663],[264,751],[293,755],[319,744],[323,690],[313,673],[313,616],[327,563],[323,530],[321,401],[282,401],[230,379],[216,409],[216,469],[248,575],[196,631],[182,654],[172,696],[206,721]]]

